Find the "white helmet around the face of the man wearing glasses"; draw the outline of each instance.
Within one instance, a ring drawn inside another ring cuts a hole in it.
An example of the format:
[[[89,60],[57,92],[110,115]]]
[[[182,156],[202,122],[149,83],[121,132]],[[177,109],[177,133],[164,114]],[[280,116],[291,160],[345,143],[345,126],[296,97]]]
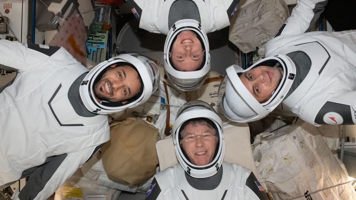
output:
[[[180,146],[180,132],[192,120],[204,120],[208,122],[218,135],[218,144],[216,145],[213,161],[204,166],[192,164]],[[185,123],[186,122],[186,123]],[[194,178],[205,178],[216,174],[223,163],[225,153],[223,123],[215,113],[213,107],[203,101],[190,101],[185,103],[177,113],[177,119],[173,124],[173,141],[176,149],[176,155],[183,169]]]

